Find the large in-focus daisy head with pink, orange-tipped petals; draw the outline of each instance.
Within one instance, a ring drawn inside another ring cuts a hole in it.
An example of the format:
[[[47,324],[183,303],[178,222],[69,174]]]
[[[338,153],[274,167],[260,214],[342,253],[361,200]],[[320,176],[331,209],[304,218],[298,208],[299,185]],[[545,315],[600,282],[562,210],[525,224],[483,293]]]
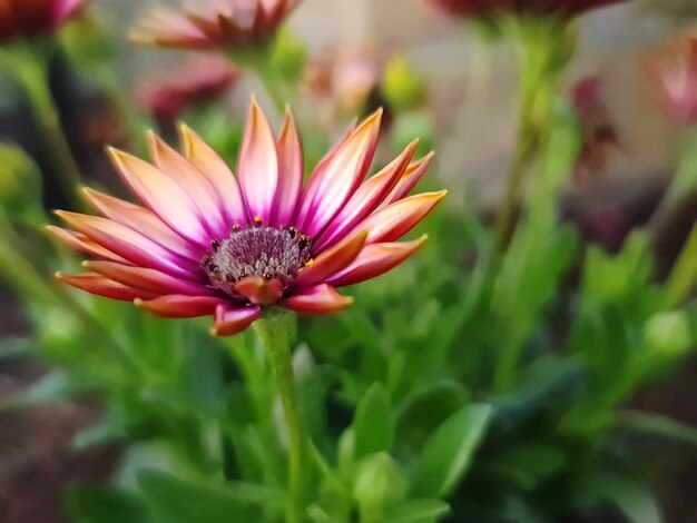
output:
[[[237,176],[187,127],[184,155],[149,136],[153,164],[116,149],[111,159],[141,200],[86,188],[102,217],[58,211],[58,238],[96,260],[58,278],[166,317],[215,315],[213,332],[247,328],[264,307],[334,313],[351,305],[336,287],[381,275],[425,240],[397,243],[446,191],[408,196],[431,155],[414,141],[364,181],[381,111],[353,126],[303,187],[300,137],[289,111],[281,134],[253,101]]]

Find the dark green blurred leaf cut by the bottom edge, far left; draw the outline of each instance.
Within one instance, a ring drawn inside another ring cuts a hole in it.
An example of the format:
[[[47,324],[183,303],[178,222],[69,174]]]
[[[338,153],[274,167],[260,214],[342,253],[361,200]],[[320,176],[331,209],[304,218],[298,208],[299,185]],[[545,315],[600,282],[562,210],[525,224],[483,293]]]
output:
[[[66,493],[70,521],[79,523],[148,523],[141,500],[110,487],[75,485]]]

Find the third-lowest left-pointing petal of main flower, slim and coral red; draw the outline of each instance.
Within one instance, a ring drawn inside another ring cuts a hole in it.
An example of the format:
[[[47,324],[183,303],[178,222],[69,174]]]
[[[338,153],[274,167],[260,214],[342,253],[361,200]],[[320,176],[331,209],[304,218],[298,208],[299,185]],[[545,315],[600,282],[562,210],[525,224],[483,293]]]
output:
[[[210,296],[214,290],[205,285],[177,278],[166,273],[146,267],[132,267],[111,262],[82,262],[82,266],[109,279],[158,295],[186,294]]]

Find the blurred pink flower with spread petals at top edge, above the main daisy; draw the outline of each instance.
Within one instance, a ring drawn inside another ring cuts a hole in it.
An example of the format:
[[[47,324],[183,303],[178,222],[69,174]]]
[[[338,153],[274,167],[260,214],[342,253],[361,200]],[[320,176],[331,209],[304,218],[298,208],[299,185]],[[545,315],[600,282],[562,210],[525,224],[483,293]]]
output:
[[[271,40],[301,0],[208,0],[184,11],[156,11],[143,20],[132,40],[179,49],[256,47]]]

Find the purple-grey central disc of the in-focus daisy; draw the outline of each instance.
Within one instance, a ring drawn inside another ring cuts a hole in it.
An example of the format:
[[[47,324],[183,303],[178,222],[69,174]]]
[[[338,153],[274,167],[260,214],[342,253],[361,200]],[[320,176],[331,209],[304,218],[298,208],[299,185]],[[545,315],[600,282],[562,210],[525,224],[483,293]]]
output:
[[[308,236],[294,227],[277,229],[256,223],[247,229],[235,226],[227,239],[210,243],[202,266],[214,287],[235,294],[235,284],[249,276],[278,279],[287,287],[311,260]]]

